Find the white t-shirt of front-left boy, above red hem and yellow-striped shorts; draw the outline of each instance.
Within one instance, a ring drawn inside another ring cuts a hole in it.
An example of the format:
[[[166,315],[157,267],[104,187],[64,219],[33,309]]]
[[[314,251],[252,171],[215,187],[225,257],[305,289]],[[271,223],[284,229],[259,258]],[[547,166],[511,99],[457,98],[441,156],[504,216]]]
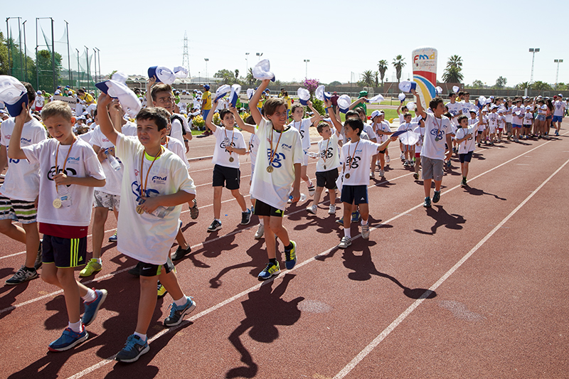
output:
[[[55,167],[55,154],[58,151],[58,167]],[[40,193],[38,203],[38,222],[55,225],[88,226],[91,222],[93,192],[95,188],[71,184],[68,186],[72,205],[53,208],[53,201],[58,198],[53,176],[63,170],[65,157],[70,154],[65,164],[65,175],[85,178],[92,176],[104,179],[105,174],[97,159],[97,154],[90,144],[83,139],[75,139],[72,145],[60,145],[55,139],[45,139],[39,144],[23,146],[22,150],[31,164],[40,165]]]

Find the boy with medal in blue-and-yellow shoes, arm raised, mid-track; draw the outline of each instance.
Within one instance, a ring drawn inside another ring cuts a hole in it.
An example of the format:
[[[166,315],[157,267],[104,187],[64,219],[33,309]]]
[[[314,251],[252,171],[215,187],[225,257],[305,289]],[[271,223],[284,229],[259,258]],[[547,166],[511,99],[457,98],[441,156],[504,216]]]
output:
[[[259,102],[269,82],[270,80],[262,81],[250,104]],[[282,217],[289,196],[292,196],[294,203],[299,201],[300,167],[304,159],[300,132],[296,128],[285,127],[287,101],[282,97],[271,97],[265,101],[263,109],[265,117],[262,117],[256,107],[250,107],[257,126],[245,129],[259,137],[260,154],[257,154],[250,193],[256,199],[255,215],[265,220],[265,243],[269,263],[258,275],[260,280],[270,279],[280,273],[275,235],[285,245],[287,269],[292,269],[297,263],[297,244],[289,239],[287,229],[282,226]]]

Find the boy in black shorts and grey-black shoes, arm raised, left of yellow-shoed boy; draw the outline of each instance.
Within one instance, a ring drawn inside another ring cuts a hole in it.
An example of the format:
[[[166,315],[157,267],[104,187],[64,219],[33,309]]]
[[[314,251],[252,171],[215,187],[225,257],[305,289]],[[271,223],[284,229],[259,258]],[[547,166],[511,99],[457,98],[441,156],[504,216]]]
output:
[[[215,107],[217,100],[213,101]],[[208,113],[206,127],[216,137],[216,146],[213,149],[213,221],[208,232],[216,232],[221,226],[221,193],[223,186],[231,191],[241,208],[241,225],[247,225],[251,220],[251,210],[247,208],[245,198],[240,193],[241,171],[239,155],[245,155],[245,139],[240,130],[235,129],[235,114],[223,109],[219,112],[221,127],[213,124],[213,112]]]

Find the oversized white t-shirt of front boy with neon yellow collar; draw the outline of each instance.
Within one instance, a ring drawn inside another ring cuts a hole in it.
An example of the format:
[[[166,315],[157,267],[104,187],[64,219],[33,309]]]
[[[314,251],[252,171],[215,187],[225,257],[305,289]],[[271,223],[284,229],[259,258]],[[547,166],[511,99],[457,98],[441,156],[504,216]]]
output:
[[[181,205],[176,205],[164,218],[137,213],[137,198],[148,174],[145,195],[155,197],[178,191],[196,193],[196,186],[179,156],[164,149],[154,164],[154,157],[144,153],[144,146],[135,137],[117,137],[117,156],[124,164],[122,176],[117,250],[152,265],[164,265],[178,233]],[[140,162],[144,157],[143,172]],[[152,169],[149,168],[152,164]]]

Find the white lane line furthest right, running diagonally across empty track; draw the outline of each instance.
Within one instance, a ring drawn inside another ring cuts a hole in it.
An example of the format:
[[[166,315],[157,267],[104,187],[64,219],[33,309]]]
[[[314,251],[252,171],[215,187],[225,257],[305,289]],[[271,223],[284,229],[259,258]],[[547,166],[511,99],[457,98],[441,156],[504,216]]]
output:
[[[541,188],[543,188],[543,186],[545,186],[546,183],[550,181],[551,178],[553,178],[553,176],[555,176],[555,174],[561,171],[561,169],[563,169],[563,167],[565,167],[567,164],[569,164],[569,160],[565,161],[565,163],[562,166],[560,166],[553,174],[551,174],[551,176],[549,176],[546,179],[546,181],[541,183],[538,186],[538,188],[536,188],[535,191],[533,191],[524,201],[522,201],[514,210],[512,210],[511,213],[507,215],[506,218],[504,218],[504,220],[501,220],[501,222],[498,225],[496,225],[496,227],[492,229],[490,233],[485,235],[484,238],[482,238],[482,240],[480,240],[476,246],[472,247],[472,249],[469,252],[467,252],[467,254],[464,255],[464,257],[462,257],[461,260],[459,260],[444,275],[442,275],[442,277],[440,277],[440,279],[438,279],[435,284],[433,284],[429,289],[427,289],[427,291],[425,291],[425,293],[422,294],[422,296],[419,299],[415,300],[413,304],[411,304],[408,307],[408,309],[405,309],[405,311],[403,311],[403,313],[400,314],[397,319],[395,319],[387,328],[383,329],[383,331],[379,334],[379,336],[374,338],[373,341],[371,341],[371,343],[369,343],[368,346],[366,346],[366,348],[364,348],[355,358],[352,359],[350,363],[346,365],[346,367],[344,367],[339,373],[337,373],[334,376],[334,379],[341,379],[344,378],[346,375],[348,375],[350,371],[353,370],[353,368],[355,368],[356,365],[358,365],[358,363],[360,363],[363,360],[363,358],[366,358],[366,356],[368,356],[368,354],[371,353],[371,351],[373,351],[373,349],[376,348],[376,346],[378,346],[379,343],[381,343],[381,341],[383,341],[385,337],[387,337],[389,333],[393,331],[393,329],[395,329],[399,324],[401,324],[401,322],[403,322],[403,320],[405,320],[405,318],[407,318],[407,316],[409,316],[411,312],[413,312],[418,306],[420,306],[420,304],[423,301],[425,301],[425,299],[429,297],[429,295],[432,292],[434,292],[435,289],[440,287],[440,285],[444,283],[445,280],[447,280],[455,271],[457,271],[457,269],[460,266],[462,266],[462,264],[466,262],[468,258],[474,254],[474,252],[476,252],[480,247],[482,247],[482,245],[484,245],[484,243],[487,240],[489,240],[490,237],[494,235],[494,233],[496,233],[496,231],[502,227],[502,225],[504,225],[510,218],[512,218],[512,216],[514,216],[518,212],[518,210],[520,210],[521,207],[523,207],[523,205],[526,205],[526,203],[531,198],[533,198],[533,196],[536,193],[538,193],[538,191],[541,190]]]

